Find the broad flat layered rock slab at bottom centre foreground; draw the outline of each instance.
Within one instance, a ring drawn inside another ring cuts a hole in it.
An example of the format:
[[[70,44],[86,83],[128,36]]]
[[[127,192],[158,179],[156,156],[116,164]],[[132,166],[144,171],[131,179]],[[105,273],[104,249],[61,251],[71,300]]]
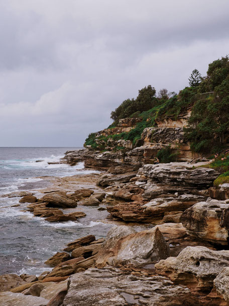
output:
[[[71,276],[64,306],[99,305],[101,302],[104,306],[200,306],[188,288],[174,285],[159,275],[133,275],[107,267]]]

